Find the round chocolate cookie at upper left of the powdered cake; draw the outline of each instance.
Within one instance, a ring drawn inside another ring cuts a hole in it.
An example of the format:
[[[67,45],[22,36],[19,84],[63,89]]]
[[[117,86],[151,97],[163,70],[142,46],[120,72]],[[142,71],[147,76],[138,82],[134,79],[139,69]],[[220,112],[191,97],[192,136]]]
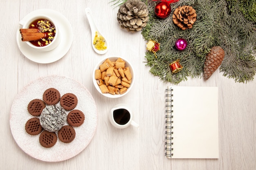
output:
[[[40,99],[34,99],[27,105],[27,110],[32,116],[40,116],[45,108],[45,102]]]

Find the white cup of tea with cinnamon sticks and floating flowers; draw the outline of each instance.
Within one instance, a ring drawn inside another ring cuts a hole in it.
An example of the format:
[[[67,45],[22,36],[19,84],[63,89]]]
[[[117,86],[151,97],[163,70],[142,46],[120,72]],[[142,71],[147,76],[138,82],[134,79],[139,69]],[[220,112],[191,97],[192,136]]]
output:
[[[61,42],[54,19],[48,15],[29,15],[20,20],[21,40],[40,52],[51,51]]]

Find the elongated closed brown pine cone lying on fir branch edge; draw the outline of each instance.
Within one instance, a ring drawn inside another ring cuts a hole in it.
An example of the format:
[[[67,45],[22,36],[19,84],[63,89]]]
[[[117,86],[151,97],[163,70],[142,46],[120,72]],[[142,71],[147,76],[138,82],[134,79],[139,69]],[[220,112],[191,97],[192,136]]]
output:
[[[213,46],[211,51],[206,55],[204,61],[204,79],[207,80],[211,77],[214,71],[220,66],[224,59],[225,51],[220,46]]]

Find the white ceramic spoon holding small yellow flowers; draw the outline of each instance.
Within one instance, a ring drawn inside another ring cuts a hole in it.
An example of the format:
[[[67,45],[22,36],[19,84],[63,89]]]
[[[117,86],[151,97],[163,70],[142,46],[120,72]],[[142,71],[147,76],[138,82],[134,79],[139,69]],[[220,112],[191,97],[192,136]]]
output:
[[[90,24],[90,27],[91,27],[91,32],[92,32],[92,48],[94,49],[94,51],[98,54],[105,54],[107,51],[108,51],[108,43],[106,41],[106,38],[101,34],[101,32],[99,31],[99,29],[97,29],[97,26],[93,20],[93,17],[92,17],[92,11],[90,8],[86,8],[85,9],[85,14],[87,16],[87,19],[89,21],[89,24]],[[93,44],[93,40],[94,40],[94,37],[95,37],[95,32],[98,32],[98,36],[102,36],[104,39],[105,39],[105,46],[107,47],[106,50],[98,50],[95,48],[94,44]]]

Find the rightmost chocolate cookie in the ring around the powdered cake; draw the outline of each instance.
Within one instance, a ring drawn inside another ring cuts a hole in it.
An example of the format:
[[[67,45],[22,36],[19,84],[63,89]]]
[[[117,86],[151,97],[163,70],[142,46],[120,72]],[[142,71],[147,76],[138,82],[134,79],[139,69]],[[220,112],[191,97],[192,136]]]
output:
[[[85,116],[81,110],[72,110],[67,115],[67,123],[70,126],[78,127],[83,124]]]

